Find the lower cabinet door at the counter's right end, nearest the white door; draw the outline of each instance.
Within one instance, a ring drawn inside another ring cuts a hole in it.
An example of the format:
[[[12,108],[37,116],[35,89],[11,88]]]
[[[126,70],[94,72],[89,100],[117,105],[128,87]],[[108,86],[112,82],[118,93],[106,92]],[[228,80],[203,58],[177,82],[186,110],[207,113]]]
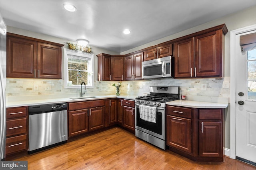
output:
[[[222,157],[221,121],[200,121],[199,123],[199,156]]]

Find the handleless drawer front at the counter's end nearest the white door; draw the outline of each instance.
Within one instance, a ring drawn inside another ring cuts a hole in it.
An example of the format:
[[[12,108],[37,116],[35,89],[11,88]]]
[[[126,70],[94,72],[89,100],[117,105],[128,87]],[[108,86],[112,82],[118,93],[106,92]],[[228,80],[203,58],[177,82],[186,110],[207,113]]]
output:
[[[199,109],[199,119],[222,119],[222,109]]]

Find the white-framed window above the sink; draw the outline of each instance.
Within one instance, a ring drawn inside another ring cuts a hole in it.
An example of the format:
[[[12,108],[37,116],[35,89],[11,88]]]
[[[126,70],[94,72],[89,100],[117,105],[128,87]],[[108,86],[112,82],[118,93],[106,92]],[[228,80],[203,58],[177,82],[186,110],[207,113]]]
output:
[[[64,49],[65,88],[80,88],[85,82],[86,88],[93,88],[93,54]]]

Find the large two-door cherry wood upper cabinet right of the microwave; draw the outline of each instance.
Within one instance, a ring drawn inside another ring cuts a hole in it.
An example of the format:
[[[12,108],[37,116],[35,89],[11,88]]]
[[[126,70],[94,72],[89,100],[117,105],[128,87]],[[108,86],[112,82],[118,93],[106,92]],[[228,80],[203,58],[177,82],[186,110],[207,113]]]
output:
[[[218,25],[177,39],[175,78],[222,77],[226,25]]]

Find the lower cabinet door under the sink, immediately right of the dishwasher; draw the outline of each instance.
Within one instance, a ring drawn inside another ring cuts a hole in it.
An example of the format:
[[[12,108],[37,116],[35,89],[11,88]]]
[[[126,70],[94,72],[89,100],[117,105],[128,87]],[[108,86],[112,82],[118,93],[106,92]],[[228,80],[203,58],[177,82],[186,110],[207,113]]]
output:
[[[68,112],[68,136],[88,132],[88,109]]]

